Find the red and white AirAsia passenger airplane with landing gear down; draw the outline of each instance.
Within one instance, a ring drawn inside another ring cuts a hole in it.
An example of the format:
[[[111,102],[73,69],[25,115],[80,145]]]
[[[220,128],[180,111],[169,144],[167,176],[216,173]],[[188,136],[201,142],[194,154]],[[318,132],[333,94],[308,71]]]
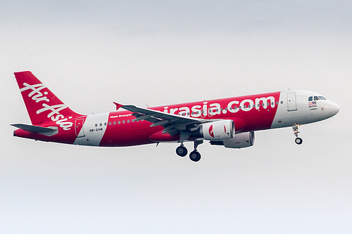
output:
[[[184,142],[194,142],[189,158],[198,162],[203,141],[225,148],[247,148],[255,131],[292,127],[301,145],[298,128],[339,112],[339,106],[313,91],[277,91],[234,98],[141,108],[115,103],[116,110],[80,115],[65,105],[32,72],[15,72],[32,124],[11,124],[13,136],[36,141],[120,147],[179,143],[176,154],[184,157]],[[121,110],[124,109],[124,110]]]

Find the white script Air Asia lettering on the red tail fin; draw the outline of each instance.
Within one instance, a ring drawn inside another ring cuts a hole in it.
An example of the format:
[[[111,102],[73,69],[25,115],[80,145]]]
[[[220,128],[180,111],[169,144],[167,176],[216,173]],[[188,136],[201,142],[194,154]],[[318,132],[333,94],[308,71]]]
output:
[[[20,89],[21,92],[26,91],[28,89],[32,90],[32,92],[28,93],[28,97],[32,98],[32,100],[35,100],[36,103],[39,103],[41,101],[49,103],[50,100],[44,96],[48,95],[47,91],[44,91],[44,94],[41,92],[42,89],[46,88],[44,84],[27,84],[23,83],[23,88]],[[63,130],[69,130],[71,129],[71,126],[73,126],[73,122],[69,122],[68,119],[72,119],[72,117],[65,117],[60,114],[61,110],[64,110],[65,108],[68,108],[67,105],[65,104],[58,104],[58,105],[48,105],[46,103],[42,103],[42,109],[37,110],[37,114],[40,114],[46,110],[49,110],[49,114],[47,117],[51,119],[51,121],[55,122],[58,124]]]

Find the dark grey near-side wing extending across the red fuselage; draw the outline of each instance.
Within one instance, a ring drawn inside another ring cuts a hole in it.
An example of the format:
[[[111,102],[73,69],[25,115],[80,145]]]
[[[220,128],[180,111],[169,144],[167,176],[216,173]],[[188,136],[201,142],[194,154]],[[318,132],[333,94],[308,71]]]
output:
[[[168,133],[171,136],[179,134],[182,130],[191,131],[196,129],[199,124],[214,121],[214,119],[196,119],[192,117],[168,114],[158,110],[139,108],[135,105],[120,105],[118,103],[115,103],[115,105],[117,108],[123,108],[125,110],[129,110],[130,112],[134,112],[132,115],[136,117],[135,120],[137,121],[144,119],[151,122],[151,126],[163,126],[163,134]]]

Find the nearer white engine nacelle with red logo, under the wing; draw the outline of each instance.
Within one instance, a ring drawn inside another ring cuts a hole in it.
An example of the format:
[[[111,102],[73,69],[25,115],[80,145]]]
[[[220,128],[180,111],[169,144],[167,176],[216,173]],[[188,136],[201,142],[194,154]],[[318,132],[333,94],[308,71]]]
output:
[[[201,125],[200,133],[207,141],[223,141],[234,137],[234,122],[231,119],[219,120]]]

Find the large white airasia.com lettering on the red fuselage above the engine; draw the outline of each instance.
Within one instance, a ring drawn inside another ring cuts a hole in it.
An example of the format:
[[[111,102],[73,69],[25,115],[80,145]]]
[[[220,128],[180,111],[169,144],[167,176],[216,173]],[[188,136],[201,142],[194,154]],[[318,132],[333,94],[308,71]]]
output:
[[[275,108],[275,98],[273,96],[269,96],[267,98],[256,98],[252,99],[244,99],[239,102],[238,100],[232,100],[230,103],[227,103],[225,107],[221,106],[219,103],[208,103],[208,101],[204,101],[203,105],[194,105],[191,108],[189,107],[181,107],[181,108],[169,108],[164,107],[163,112],[167,114],[174,115],[190,115],[191,117],[211,117],[213,115],[221,115],[226,114],[227,112],[236,113],[239,110],[247,112],[255,108],[256,110],[260,110],[260,107],[267,109],[268,106],[271,108]]]

